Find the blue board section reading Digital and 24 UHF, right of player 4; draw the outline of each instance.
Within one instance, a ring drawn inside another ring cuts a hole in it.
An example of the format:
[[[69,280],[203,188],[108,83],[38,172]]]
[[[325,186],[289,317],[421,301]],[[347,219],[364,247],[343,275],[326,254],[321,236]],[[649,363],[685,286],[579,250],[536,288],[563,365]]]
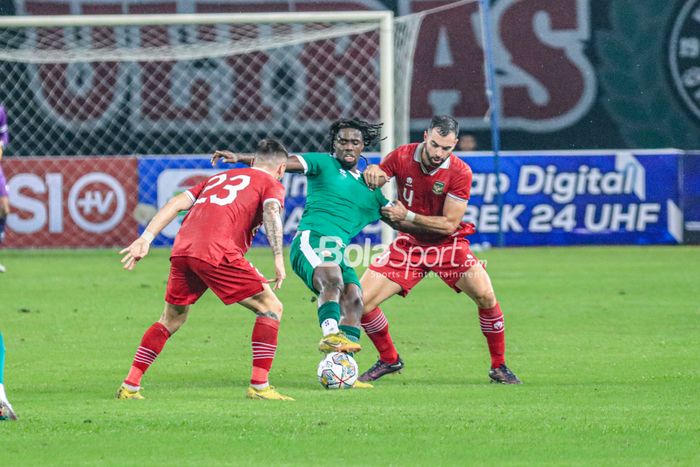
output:
[[[679,151],[508,153],[500,158],[505,245],[681,243]],[[465,220],[475,242],[498,241],[491,154],[472,168]]]

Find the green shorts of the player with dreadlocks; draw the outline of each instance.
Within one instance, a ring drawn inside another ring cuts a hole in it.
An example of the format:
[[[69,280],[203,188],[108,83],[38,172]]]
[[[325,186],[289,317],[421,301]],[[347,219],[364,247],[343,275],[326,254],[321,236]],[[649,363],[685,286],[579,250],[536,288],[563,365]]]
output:
[[[319,292],[314,287],[314,270],[321,263],[337,264],[343,275],[343,283],[345,285],[357,284],[360,287],[357,273],[345,261],[345,247],[346,245],[337,237],[320,235],[310,230],[301,230],[292,240],[289,260],[296,275],[316,295]]]

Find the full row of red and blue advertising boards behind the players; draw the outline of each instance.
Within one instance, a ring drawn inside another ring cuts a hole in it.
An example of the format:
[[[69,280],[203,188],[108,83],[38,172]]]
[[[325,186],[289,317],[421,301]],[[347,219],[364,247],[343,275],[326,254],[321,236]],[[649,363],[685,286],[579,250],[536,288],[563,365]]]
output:
[[[470,238],[496,244],[492,154],[462,157],[474,170],[465,220],[477,225],[477,234]],[[379,154],[371,154],[369,161],[378,162]],[[505,244],[697,242],[699,161],[678,150],[506,153],[501,158]],[[5,170],[13,193],[8,247],[112,247],[142,231],[144,213],[155,212],[173,195],[222,169],[212,169],[208,156],[199,155],[22,157],[6,160]],[[305,205],[306,179],[287,174],[284,184],[289,244]],[[164,229],[155,244],[170,245],[179,222]],[[365,240],[380,242],[379,223],[365,228],[355,243]],[[267,244],[261,232],[255,244]]]

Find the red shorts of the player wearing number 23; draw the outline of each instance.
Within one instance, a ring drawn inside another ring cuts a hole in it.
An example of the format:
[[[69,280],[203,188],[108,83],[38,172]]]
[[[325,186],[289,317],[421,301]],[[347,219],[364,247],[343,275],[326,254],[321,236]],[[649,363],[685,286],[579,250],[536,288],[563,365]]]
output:
[[[213,266],[190,256],[174,256],[170,258],[165,301],[192,305],[211,289],[222,302],[231,305],[262,292],[263,283],[267,280],[245,258]]]

